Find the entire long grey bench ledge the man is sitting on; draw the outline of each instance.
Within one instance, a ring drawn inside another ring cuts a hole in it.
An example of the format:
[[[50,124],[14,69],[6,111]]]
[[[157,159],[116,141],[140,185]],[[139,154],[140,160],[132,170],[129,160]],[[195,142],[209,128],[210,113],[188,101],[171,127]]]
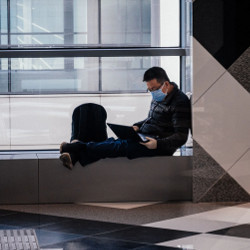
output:
[[[0,204],[192,200],[192,156],[103,159],[73,171],[58,157],[0,154]]]

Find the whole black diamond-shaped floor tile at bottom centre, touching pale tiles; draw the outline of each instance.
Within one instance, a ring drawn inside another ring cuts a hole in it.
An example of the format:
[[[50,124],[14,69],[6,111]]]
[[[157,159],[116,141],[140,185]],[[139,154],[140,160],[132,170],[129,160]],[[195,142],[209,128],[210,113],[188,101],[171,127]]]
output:
[[[141,243],[157,243],[167,240],[178,239],[182,237],[187,237],[195,233],[177,231],[177,230],[168,230],[168,229],[159,229],[151,227],[132,227],[116,232],[100,234],[98,237],[110,238],[110,239],[120,239],[135,241]]]

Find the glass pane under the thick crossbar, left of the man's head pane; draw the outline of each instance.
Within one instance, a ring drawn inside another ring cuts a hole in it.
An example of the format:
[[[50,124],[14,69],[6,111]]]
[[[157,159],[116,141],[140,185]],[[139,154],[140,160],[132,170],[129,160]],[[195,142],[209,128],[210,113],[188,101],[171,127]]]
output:
[[[13,93],[98,91],[97,58],[12,58]]]

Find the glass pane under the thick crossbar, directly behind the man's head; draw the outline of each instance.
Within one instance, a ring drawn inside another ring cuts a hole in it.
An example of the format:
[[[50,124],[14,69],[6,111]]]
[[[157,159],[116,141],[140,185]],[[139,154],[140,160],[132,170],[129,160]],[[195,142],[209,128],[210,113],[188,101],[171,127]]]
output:
[[[102,58],[102,90],[145,91],[143,74],[152,66],[164,68],[171,81],[179,85],[179,57],[108,57]]]

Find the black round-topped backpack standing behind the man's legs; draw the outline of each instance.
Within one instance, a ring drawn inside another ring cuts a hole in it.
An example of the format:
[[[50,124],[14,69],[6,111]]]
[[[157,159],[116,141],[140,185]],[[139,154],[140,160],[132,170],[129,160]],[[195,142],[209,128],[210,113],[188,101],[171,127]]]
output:
[[[103,106],[86,103],[76,107],[72,114],[72,140],[101,142],[108,138],[107,112]]]

